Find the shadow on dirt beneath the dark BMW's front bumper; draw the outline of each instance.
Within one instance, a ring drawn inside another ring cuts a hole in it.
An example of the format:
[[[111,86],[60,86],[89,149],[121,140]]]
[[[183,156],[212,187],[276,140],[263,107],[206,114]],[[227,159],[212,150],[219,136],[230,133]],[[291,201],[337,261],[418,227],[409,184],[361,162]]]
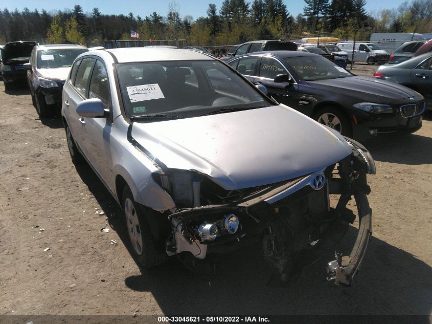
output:
[[[363,142],[376,161],[418,165],[432,163],[432,138],[417,134],[376,138]]]

